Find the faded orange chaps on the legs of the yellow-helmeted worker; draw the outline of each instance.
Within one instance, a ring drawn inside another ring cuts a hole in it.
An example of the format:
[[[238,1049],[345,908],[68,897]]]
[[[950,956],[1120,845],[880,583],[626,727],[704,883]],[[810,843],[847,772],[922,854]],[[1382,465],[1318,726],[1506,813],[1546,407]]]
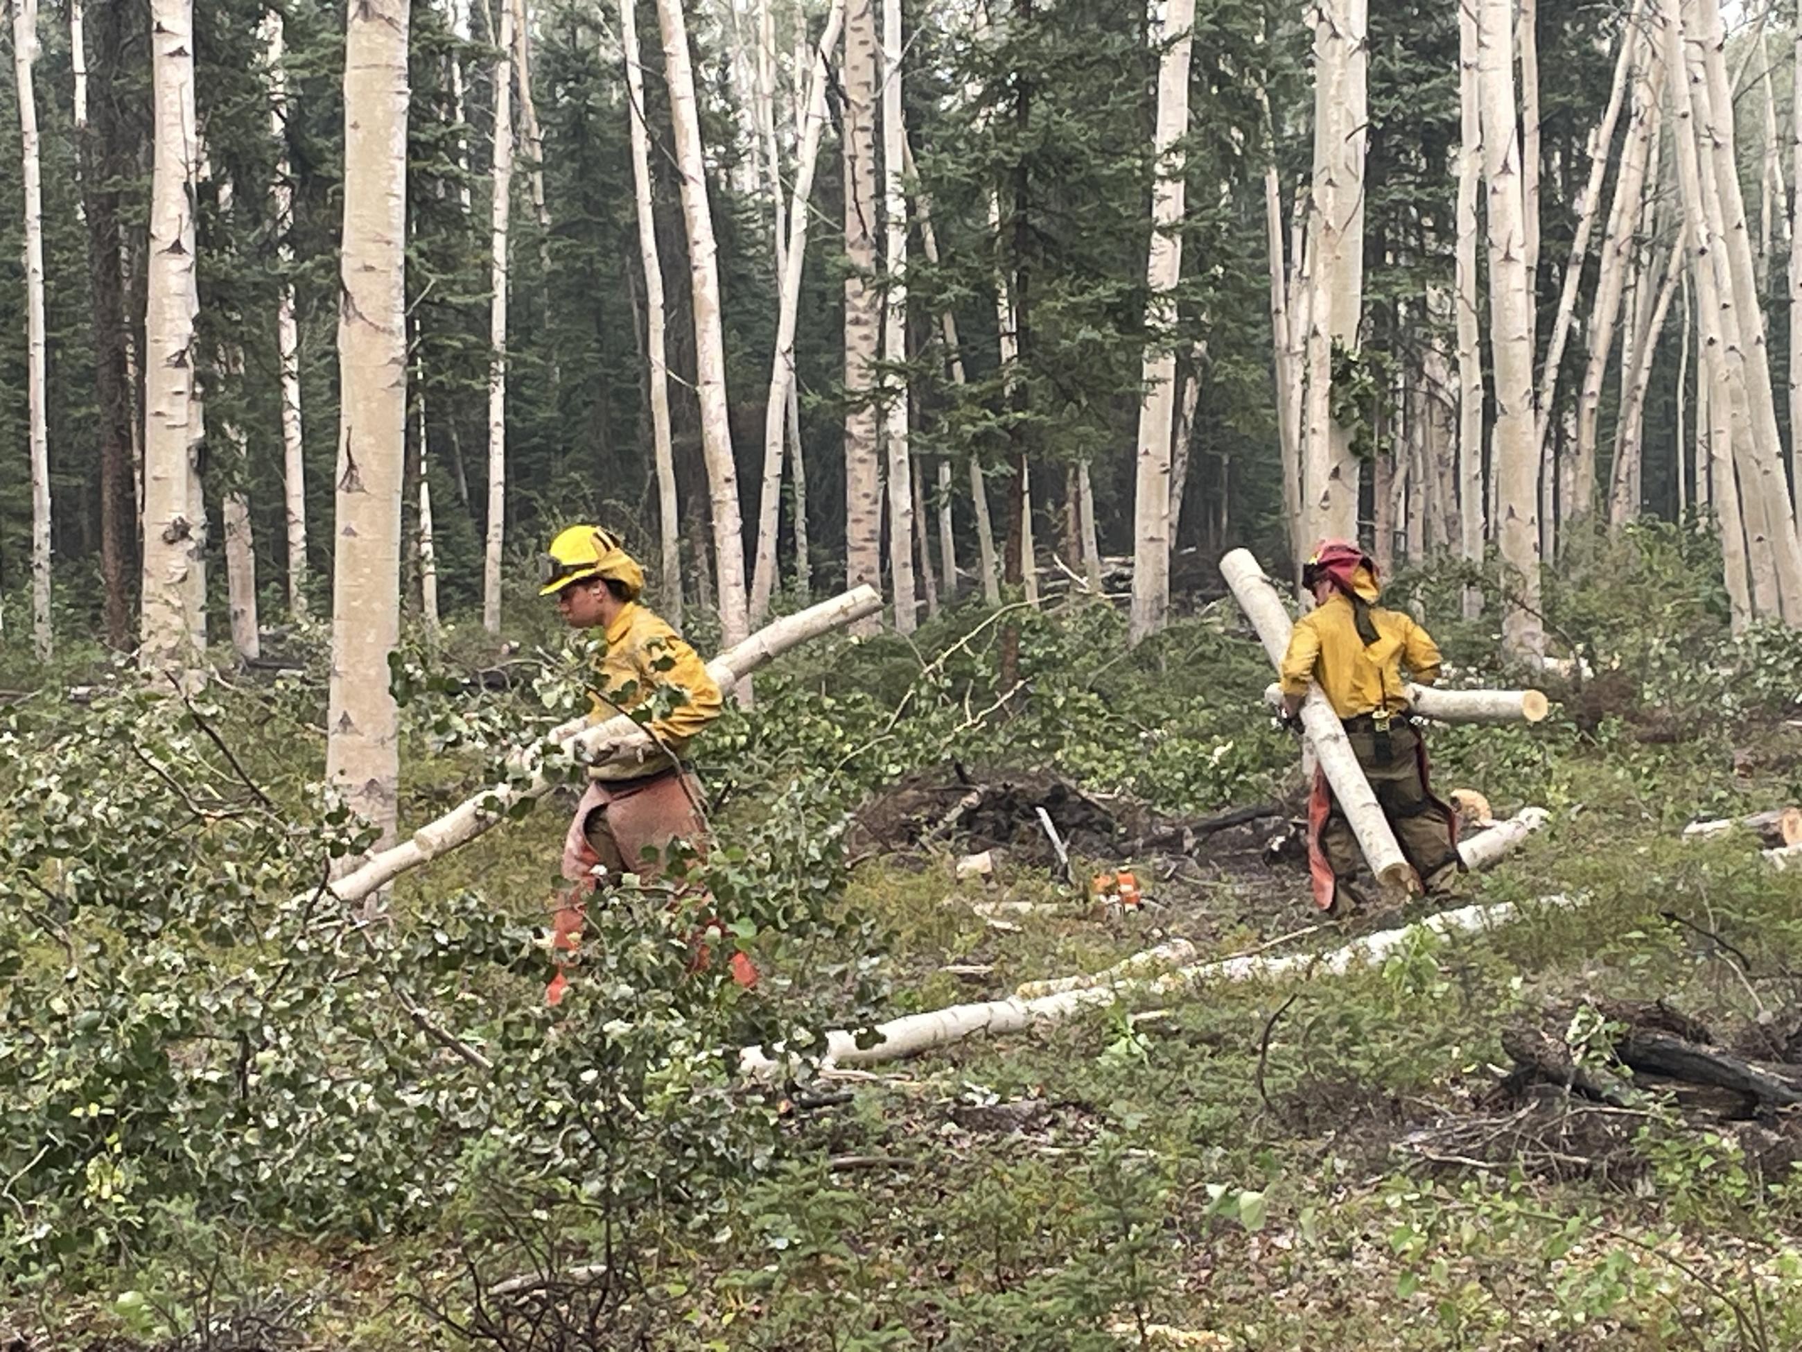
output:
[[[705,856],[706,822],[696,806],[699,799],[694,777],[674,770],[623,782],[589,782],[564,836],[562,876],[571,887],[551,918],[557,973],[544,988],[546,1004],[559,1004],[569,988],[564,968],[582,946],[587,898],[605,878],[636,872],[647,883],[658,882],[665,869],[663,854],[678,838],[688,840]],[[596,878],[596,869],[605,869],[605,878]],[[712,925],[708,918],[703,930]],[[708,961],[708,948],[697,936],[690,970],[701,972]],[[741,986],[757,984],[757,968],[741,952],[732,954],[732,975]]]

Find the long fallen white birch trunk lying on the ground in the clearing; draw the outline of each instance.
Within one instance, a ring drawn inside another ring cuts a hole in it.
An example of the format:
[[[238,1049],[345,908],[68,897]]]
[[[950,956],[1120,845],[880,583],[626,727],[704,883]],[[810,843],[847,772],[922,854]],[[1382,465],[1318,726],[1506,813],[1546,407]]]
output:
[[[1568,896],[1541,898],[1537,907],[1570,907],[1575,901]],[[777,1046],[773,1055],[759,1047],[739,1051],[739,1073],[748,1078],[769,1078],[793,1071],[805,1051],[820,1056],[822,1069],[876,1065],[879,1062],[917,1056],[923,1051],[937,1051],[978,1033],[1004,1035],[1020,1033],[1036,1024],[1051,1024],[1069,1019],[1083,1009],[1114,1004],[1115,1000],[1155,1000],[1168,995],[1188,993],[1206,988],[1216,981],[1276,981],[1288,975],[1312,977],[1342,975],[1355,966],[1377,966],[1388,961],[1407,945],[1425,936],[1449,937],[1452,934],[1481,934],[1514,921],[1526,910],[1514,901],[1501,901],[1492,907],[1460,907],[1442,910],[1415,925],[1395,930],[1380,930],[1362,939],[1333,948],[1326,954],[1292,954],[1288,957],[1245,955],[1227,957],[1216,963],[1198,963],[1179,968],[1151,979],[1128,979],[1112,986],[1087,986],[1058,991],[1036,999],[982,1000],[977,1004],[953,1004],[946,1009],[890,1019],[874,1028],[876,1040],[858,1046],[858,1033],[852,1029],[833,1029],[824,1037],[809,1037],[800,1046]]]

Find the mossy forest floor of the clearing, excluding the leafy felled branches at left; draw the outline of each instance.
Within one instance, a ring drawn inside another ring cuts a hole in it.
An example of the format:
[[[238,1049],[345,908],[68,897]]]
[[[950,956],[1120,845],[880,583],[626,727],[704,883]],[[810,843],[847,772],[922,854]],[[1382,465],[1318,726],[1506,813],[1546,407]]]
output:
[[[1443,905],[1315,912],[1305,863],[1269,849],[1297,782],[1294,745],[1252,712],[1261,656],[1231,618],[1188,633],[1234,654],[1206,692],[1173,692],[1197,676],[1179,638],[1130,694],[1103,687],[1083,703],[1047,678],[1033,698],[1058,710],[1031,735],[946,735],[960,723],[953,689],[930,737],[865,761],[833,900],[856,925],[820,943],[760,939],[766,981],[750,999],[849,1009],[861,963],[894,1017],[1173,937],[1204,959],[1324,952]],[[1460,638],[1447,647],[1463,656]],[[1550,723],[1431,734],[1442,793],[1476,788],[1497,817],[1552,813],[1451,901],[1521,903],[1514,923],[1344,975],[1213,984],[789,1085],[760,1165],[638,1217],[629,1238],[618,1231],[631,1256],[613,1251],[609,1271],[593,1229],[530,1199],[505,1242],[452,1215],[360,1238],[225,1215],[207,1229],[211,1267],[189,1256],[186,1285],[169,1255],[27,1274],[0,1303],[0,1330],[14,1330],[0,1347],[1802,1347],[1802,1109],[1636,1078],[1616,1056],[1661,1004],[1721,1051],[1802,1060],[1802,871],[1775,871],[1743,833],[1681,838],[1696,817],[1798,800],[1802,663],[1723,640],[1706,660],[1752,665],[1721,680],[1762,694],[1710,716],[1714,696],[1685,705],[1678,678],[1660,683],[1694,654],[1634,669],[1638,649],[1615,642],[1627,656],[1564,690]],[[874,672],[869,708],[809,705],[807,717],[881,730],[901,687],[878,658],[852,660]],[[820,681],[771,680],[757,717],[800,717]],[[1157,759],[1157,735],[1115,755],[1123,717],[1155,728],[1168,714],[1188,735],[1191,703],[1215,721],[1173,761]],[[1162,714],[1121,712],[1132,707]],[[1220,777],[1198,788],[1209,759]],[[407,820],[467,788],[454,757],[416,764]],[[1171,766],[1191,777],[1160,779]],[[723,797],[728,842],[771,809],[750,775]],[[1067,872],[1036,806],[1069,842]],[[1245,808],[1270,815],[1218,824]],[[429,882],[405,880],[396,909],[483,887],[532,910],[560,835],[559,811],[494,831]],[[991,872],[959,876],[982,851]],[[1096,872],[1121,867],[1144,891],[1135,912],[1087,898]],[[1535,905],[1552,894],[1570,905]],[[1618,1076],[1625,1098],[1532,1083],[1503,1046],[1510,1029],[1544,1031],[1575,1067]],[[202,1269],[214,1285],[196,1294]]]

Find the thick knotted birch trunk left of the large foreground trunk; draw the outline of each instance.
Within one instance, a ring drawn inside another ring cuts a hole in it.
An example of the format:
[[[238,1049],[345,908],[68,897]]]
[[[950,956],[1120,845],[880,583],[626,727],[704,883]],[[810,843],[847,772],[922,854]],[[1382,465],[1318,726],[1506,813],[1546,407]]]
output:
[[[195,41],[191,0],[151,7],[150,249],[144,306],[144,589],[139,665],[153,674],[191,672],[198,660],[189,593],[202,503],[191,501],[195,433],[193,186]],[[386,689],[386,680],[384,680]]]

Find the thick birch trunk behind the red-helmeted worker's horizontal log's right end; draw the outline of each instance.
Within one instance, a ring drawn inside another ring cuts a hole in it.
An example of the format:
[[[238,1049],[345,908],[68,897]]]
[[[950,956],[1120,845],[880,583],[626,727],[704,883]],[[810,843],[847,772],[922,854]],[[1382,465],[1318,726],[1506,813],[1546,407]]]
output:
[[[1488,332],[1496,359],[1496,516],[1501,557],[1519,593],[1503,613],[1510,658],[1539,658],[1539,447],[1534,442],[1534,330],[1521,202],[1521,146],[1514,117],[1512,16],[1508,0],[1479,0],[1479,92],[1483,178],[1488,187]]]

